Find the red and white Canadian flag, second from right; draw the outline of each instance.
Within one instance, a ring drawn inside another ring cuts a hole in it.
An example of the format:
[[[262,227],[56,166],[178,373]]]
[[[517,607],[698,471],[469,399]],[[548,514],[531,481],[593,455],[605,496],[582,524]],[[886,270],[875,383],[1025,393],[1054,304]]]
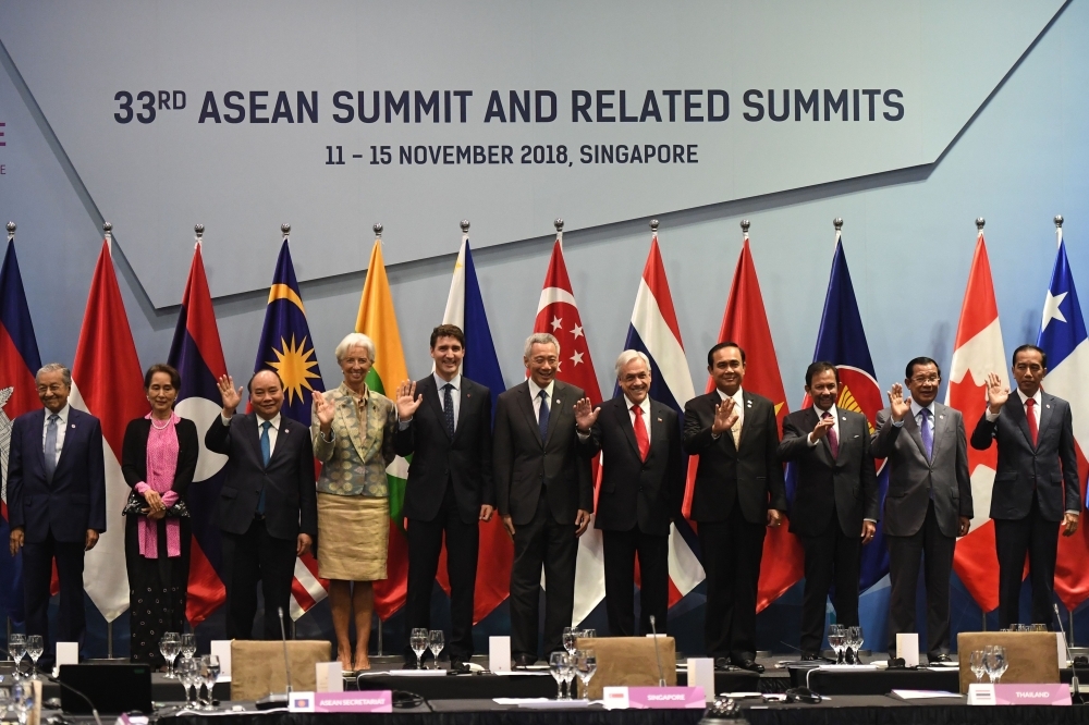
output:
[[[979,233],[976,254],[968,274],[968,288],[960,306],[960,322],[950,364],[945,405],[964,416],[965,431],[983,417],[987,407],[987,374],[993,372],[1008,388],[1006,353],[999,327],[999,306],[994,302],[991,263],[983,242],[983,220],[976,220]],[[984,612],[999,605],[999,558],[994,551],[994,524],[991,521],[991,487],[998,466],[996,446],[977,451],[968,446],[968,472],[971,476],[971,505],[975,516],[968,536],[960,539],[953,557],[953,568],[968,593]]]

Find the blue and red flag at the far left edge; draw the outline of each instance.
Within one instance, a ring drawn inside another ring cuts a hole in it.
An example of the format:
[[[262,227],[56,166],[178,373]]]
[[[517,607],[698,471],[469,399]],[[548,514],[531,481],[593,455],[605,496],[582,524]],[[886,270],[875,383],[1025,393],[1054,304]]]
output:
[[[11,421],[41,407],[34,376],[41,368],[34,337],[30,310],[26,306],[23,278],[15,259],[14,229],[8,234],[8,253],[0,269],[0,541],[8,541],[8,451]],[[16,625],[23,624],[23,554],[0,553],[0,611]]]

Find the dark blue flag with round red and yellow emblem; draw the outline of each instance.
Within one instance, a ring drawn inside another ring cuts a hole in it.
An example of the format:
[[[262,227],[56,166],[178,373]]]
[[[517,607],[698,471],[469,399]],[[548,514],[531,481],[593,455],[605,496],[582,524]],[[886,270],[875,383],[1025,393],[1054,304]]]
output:
[[[835,229],[835,255],[832,258],[832,273],[828,281],[813,360],[828,360],[835,365],[840,371],[840,398],[835,402],[836,406],[865,415],[872,432],[878,411],[884,404],[873,360],[870,359],[870,348],[866,343],[866,331],[862,330],[862,318],[858,312],[855,287],[851,283],[839,225]],[[810,403],[806,401],[803,405]],[[889,490],[889,468],[884,460],[877,462],[877,466],[878,503],[883,507],[885,492]],[[787,488],[791,488],[790,481]],[[884,543],[884,528],[878,521],[873,540],[862,546],[859,590],[866,591],[886,574],[889,549]]]

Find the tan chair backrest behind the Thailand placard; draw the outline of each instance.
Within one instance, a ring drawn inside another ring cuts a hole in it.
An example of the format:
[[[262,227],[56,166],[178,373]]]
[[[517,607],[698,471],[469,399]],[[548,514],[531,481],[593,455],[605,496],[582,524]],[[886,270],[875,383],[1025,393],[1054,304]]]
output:
[[[1002,675],[1003,683],[1059,683],[1059,652],[1061,635],[1053,631],[963,631],[957,635],[957,659],[960,662],[960,691],[967,692],[968,685],[976,681],[969,666],[972,650],[981,650],[988,644],[1006,648],[1010,668]],[[1063,659],[1066,652],[1063,650]],[[1065,665],[1064,665],[1065,666]],[[987,683],[987,675],[983,675]]]

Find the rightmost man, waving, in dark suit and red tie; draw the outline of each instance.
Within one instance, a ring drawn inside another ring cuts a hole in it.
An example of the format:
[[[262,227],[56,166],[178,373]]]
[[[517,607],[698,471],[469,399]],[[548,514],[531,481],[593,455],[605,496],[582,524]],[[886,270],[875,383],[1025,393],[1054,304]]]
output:
[[[1017,395],[995,373],[987,377],[987,410],[971,432],[971,447],[999,442],[991,489],[991,519],[999,555],[999,626],[1020,622],[1025,554],[1032,581],[1032,624],[1052,623],[1059,531],[1078,530],[1081,494],[1070,404],[1040,389],[1048,356],[1036,345],[1014,351]]]

